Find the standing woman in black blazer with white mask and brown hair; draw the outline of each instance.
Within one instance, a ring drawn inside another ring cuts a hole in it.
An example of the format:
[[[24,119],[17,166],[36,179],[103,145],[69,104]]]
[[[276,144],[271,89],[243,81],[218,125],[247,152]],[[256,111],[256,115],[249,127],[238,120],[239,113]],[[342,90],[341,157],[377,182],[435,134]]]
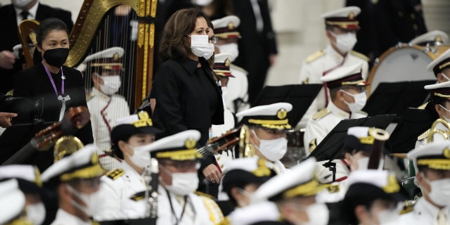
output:
[[[176,11],[169,18],[160,42],[159,56],[164,63],[153,84],[153,120],[165,129],[162,136],[196,129],[202,134],[201,146],[210,137],[212,124],[224,124],[221,91],[207,62],[214,53],[208,23],[205,15],[193,8]],[[217,195],[217,190],[202,187],[202,176],[214,189],[221,179],[214,156],[203,158],[199,174],[199,191]]]

